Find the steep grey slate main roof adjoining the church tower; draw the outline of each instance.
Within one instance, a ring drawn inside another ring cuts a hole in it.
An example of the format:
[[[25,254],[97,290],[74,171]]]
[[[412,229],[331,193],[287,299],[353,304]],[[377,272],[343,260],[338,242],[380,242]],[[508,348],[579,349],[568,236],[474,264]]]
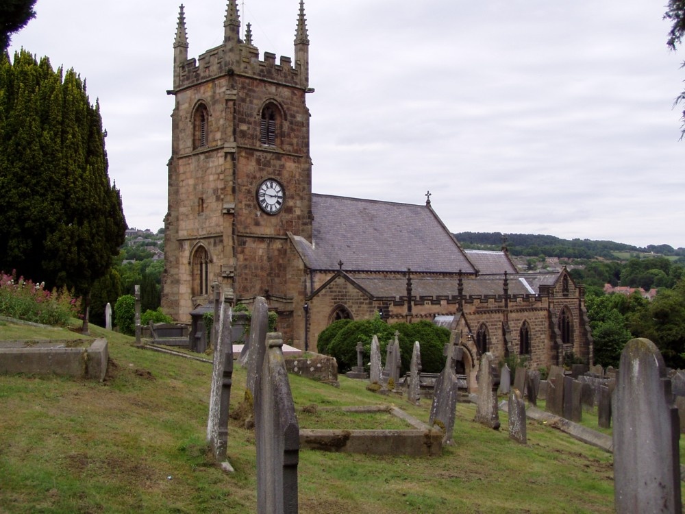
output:
[[[428,206],[314,194],[312,212],[312,244],[291,236],[310,269],[475,272]]]

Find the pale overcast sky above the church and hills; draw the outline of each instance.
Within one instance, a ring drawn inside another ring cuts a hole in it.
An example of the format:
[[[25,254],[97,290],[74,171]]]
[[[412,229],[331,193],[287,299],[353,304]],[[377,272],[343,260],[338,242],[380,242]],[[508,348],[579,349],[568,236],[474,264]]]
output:
[[[155,231],[179,3],[38,0],[11,47],[87,80],[127,223]],[[189,57],[221,44],[226,3],[184,1]],[[429,190],[453,232],[685,247],[685,51],[667,49],[665,3],[306,0],[313,191]],[[238,7],[261,54],[293,55],[299,0]]]

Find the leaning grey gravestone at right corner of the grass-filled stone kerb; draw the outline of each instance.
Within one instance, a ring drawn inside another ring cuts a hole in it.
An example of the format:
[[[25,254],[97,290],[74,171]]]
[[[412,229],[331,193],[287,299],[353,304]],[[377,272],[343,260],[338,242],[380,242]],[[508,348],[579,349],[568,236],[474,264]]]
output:
[[[440,376],[435,382],[433,390],[433,402],[430,408],[428,419],[429,426],[438,426],[443,430],[443,444],[452,444],[452,431],[454,428],[454,417],[457,408],[457,374],[456,364],[464,359],[464,348],[458,346],[460,334],[452,331],[449,344],[445,348],[447,360],[445,367],[440,371]]]

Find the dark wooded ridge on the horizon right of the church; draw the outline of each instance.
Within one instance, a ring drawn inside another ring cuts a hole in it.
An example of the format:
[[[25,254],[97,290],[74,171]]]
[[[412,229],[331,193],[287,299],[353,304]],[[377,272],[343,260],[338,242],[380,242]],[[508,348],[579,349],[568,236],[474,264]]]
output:
[[[466,249],[501,249],[501,232],[457,232],[457,241]],[[542,234],[506,234],[506,245],[512,255],[565,257],[565,258],[606,258],[615,259],[617,253],[645,254],[664,256],[685,256],[684,248],[671,245],[647,245],[637,247],[614,241],[592,241],[590,239],[562,239]]]

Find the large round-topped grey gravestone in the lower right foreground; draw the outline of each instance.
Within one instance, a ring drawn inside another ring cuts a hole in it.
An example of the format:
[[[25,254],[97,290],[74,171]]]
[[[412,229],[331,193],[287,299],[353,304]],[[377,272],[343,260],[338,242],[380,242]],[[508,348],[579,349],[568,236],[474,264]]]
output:
[[[612,413],[616,512],[680,513],[679,423],[664,360],[649,339],[623,347]]]

